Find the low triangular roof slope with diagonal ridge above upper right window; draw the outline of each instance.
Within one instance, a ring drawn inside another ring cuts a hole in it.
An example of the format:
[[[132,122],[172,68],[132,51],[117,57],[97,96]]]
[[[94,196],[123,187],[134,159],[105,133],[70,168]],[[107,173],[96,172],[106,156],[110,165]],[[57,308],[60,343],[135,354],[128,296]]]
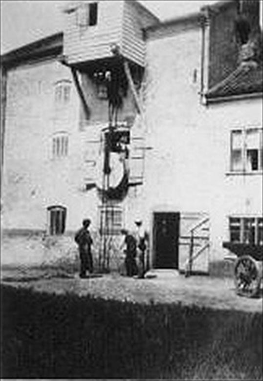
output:
[[[207,100],[249,95],[263,92],[263,66],[240,65],[227,78],[211,87],[206,93]]]

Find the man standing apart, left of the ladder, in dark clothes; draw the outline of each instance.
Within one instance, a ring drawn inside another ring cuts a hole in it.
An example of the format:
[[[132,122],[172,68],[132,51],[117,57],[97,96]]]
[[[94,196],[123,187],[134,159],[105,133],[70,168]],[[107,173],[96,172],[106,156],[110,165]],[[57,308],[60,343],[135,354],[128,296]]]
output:
[[[86,271],[93,273],[93,260],[91,254],[91,245],[93,244],[92,238],[88,231],[90,220],[85,219],[82,222],[83,227],[75,234],[75,242],[79,246],[80,253],[80,277],[85,278]]]

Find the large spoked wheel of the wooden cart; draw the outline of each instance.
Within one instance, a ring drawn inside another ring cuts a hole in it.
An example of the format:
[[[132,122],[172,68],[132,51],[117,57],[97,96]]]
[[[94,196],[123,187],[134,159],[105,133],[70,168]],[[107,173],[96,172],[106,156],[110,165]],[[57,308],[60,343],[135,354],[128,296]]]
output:
[[[260,289],[261,274],[255,259],[250,255],[242,255],[235,265],[235,286],[238,295],[257,296]]]

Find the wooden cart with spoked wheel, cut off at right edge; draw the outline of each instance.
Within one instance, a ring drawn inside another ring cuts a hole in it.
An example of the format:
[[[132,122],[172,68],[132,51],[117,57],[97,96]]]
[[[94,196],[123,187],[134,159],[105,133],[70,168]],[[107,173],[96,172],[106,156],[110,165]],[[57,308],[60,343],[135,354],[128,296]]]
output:
[[[223,242],[223,247],[237,255],[234,269],[237,294],[258,296],[263,280],[263,246]]]

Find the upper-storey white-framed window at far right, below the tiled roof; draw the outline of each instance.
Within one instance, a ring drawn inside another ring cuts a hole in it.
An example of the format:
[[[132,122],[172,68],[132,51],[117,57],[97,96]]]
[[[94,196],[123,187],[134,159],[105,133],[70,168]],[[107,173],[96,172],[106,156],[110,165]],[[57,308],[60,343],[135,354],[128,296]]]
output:
[[[262,171],[262,131],[262,128],[235,129],[231,131],[231,171]]]

